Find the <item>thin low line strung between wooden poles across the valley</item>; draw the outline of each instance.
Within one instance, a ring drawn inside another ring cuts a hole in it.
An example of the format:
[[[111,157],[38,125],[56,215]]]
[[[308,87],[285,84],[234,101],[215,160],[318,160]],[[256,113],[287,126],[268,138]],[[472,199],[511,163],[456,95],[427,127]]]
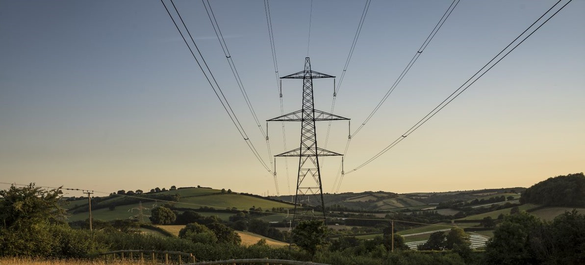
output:
[[[5,183],[5,182],[0,182],[0,184],[28,186],[28,184]],[[70,190],[70,191],[90,191],[90,190],[82,190],[82,189],[78,189],[78,188],[63,188],[63,186],[61,186],[61,187],[48,187],[48,186],[36,186],[35,185],[35,187],[39,187],[39,188],[51,188],[51,189],[57,189],[57,190]],[[165,199],[147,198],[147,197],[140,197],[140,196],[137,196],[137,195],[117,194],[117,193],[113,193],[113,192],[112,193],[109,193],[109,192],[105,192],[105,191],[92,191],[92,192],[99,193],[99,194],[109,194],[109,195],[114,195],[114,196],[118,196],[118,197],[138,198],[138,199],[146,199],[146,200],[151,200],[151,201],[168,202],[170,204],[184,204],[184,205],[192,205],[192,206],[198,206],[198,207],[209,207],[209,208],[215,208],[215,209],[233,210],[233,208],[229,208],[229,207],[218,207],[218,206],[213,206],[213,205],[194,204],[194,203],[191,203],[191,202],[167,201]],[[248,211],[248,212],[256,212],[256,213],[259,213],[259,214],[266,214],[266,212],[263,212],[263,211],[256,211],[256,210],[250,210],[250,209],[246,209],[246,211]],[[272,214],[275,214],[275,215],[283,215],[283,216],[304,216],[304,215],[300,215],[300,214],[285,214],[285,213],[282,213],[282,212],[273,212]],[[440,223],[421,223],[421,222],[402,221],[402,220],[396,220],[396,219],[355,218],[355,217],[331,217],[331,216],[326,216],[325,218],[327,218],[327,219],[339,219],[339,218],[343,218],[343,219],[349,219],[349,220],[369,220],[369,221],[394,221],[394,222],[399,222],[399,223],[414,223],[416,225],[441,226],[441,227],[448,227],[448,228],[458,227],[456,225],[442,225]]]

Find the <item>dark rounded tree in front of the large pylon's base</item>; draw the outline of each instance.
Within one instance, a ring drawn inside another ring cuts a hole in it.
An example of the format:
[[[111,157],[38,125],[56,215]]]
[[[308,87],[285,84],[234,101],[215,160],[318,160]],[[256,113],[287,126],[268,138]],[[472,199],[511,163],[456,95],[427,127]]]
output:
[[[292,242],[311,256],[315,256],[318,247],[325,245],[326,236],[327,228],[320,220],[301,221],[292,230]]]

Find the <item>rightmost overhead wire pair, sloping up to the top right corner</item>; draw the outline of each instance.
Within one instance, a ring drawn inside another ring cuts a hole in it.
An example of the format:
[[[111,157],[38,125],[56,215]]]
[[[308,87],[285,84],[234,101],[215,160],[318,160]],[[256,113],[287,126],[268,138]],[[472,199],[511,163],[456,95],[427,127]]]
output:
[[[506,56],[508,56],[508,54],[510,54],[520,44],[522,44],[526,39],[528,39],[528,37],[532,36],[532,34],[534,34],[536,32],[536,30],[540,29],[543,25],[545,25],[546,22],[548,22],[551,18],[553,18],[553,16],[555,16],[557,13],[559,13],[563,8],[565,8],[565,6],[567,6],[573,0],[569,0],[568,2],[566,2],[565,5],[563,5],[562,7],[560,7],[555,13],[553,13],[552,15],[550,15],[550,17],[548,19],[546,19],[538,27],[536,27],[535,29],[533,29],[531,33],[529,33],[528,35],[526,35],[520,42],[518,42],[517,44],[515,44],[514,47],[512,47],[512,49],[510,49],[510,50],[508,50],[506,52],[506,50],[508,49],[508,47],[512,46],[518,39],[520,39],[522,37],[522,35],[524,35],[524,33],[528,32],[528,30],[530,30],[534,25],[536,25],[536,23],[538,23],[543,17],[545,17],[561,1],[562,0],[559,0],[558,2],[556,2],[555,5],[553,5],[550,9],[548,9],[548,11],[546,11],[545,13],[543,13],[543,15],[540,18],[536,19],[536,21],[534,23],[532,23],[532,25],[528,26],[528,28],[526,28],[524,30],[524,32],[520,33],[520,35],[518,35],[518,37],[516,37],[516,39],[512,40],[512,42],[510,42],[510,44],[508,44],[508,46],[506,46],[503,50],[501,50],[500,53],[496,54],[496,56],[494,56],[490,61],[488,61],[487,64],[485,64],[483,67],[481,67],[481,69],[479,71],[477,71],[474,75],[472,75],[472,77],[470,77],[466,82],[463,83],[463,85],[461,85],[459,88],[457,88],[457,90],[455,90],[451,95],[449,95],[449,97],[447,97],[445,100],[443,100],[441,102],[441,104],[439,104],[438,106],[436,106],[431,112],[429,112],[426,116],[424,116],[424,118],[422,118],[420,121],[418,121],[417,123],[415,123],[415,125],[413,125],[404,134],[402,134],[400,137],[398,137],[396,140],[394,140],[394,142],[388,144],[388,146],[386,146],[386,148],[384,148],[383,150],[381,150],[380,152],[378,152],[375,156],[371,157],[369,160],[367,160],[366,162],[360,164],[360,166],[357,166],[352,171],[349,171],[346,174],[352,173],[353,171],[359,170],[360,168],[366,166],[366,164],[369,164],[371,161],[377,159],[382,154],[384,154],[388,150],[390,150],[392,147],[396,146],[396,144],[400,143],[405,137],[407,137],[412,132],[414,132],[415,130],[417,130],[418,128],[420,128],[420,126],[422,126],[426,121],[428,121],[433,116],[435,116],[436,113],[438,113],[443,108],[445,108],[446,105],[448,105],[450,102],[452,102],[453,99],[457,98],[461,93],[463,93],[463,91],[467,90],[467,88],[469,88],[471,85],[474,84],[474,82],[476,82],[477,80],[479,80],[479,78],[481,78],[484,74],[486,74],[488,71],[490,71],[491,68],[493,68],[496,64],[500,63],[501,60],[503,60]],[[498,58],[498,56],[500,56],[504,52],[505,52],[505,54],[503,56],[501,56],[500,58]],[[492,63],[494,60],[496,60],[495,63],[491,64],[491,66],[488,67],[490,65],[490,63]],[[486,69],[486,67],[488,67],[488,68]],[[486,69],[486,70],[483,71],[484,69]],[[483,71],[483,73],[481,73],[481,71]],[[480,74],[480,75],[477,76],[478,74]],[[473,78],[475,78],[475,79],[473,80]],[[466,86],[465,84],[467,84],[471,80],[473,80],[473,81],[470,82]]]

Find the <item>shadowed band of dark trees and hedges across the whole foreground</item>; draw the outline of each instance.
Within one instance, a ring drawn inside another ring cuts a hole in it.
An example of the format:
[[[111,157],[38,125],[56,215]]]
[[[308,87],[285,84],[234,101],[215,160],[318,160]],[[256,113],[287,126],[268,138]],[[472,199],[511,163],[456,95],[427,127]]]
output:
[[[186,252],[198,261],[267,257],[336,265],[585,264],[585,216],[577,211],[548,222],[517,209],[497,223],[485,251],[471,250],[466,233],[454,228],[431,235],[419,247],[422,251],[408,250],[404,239],[395,234],[391,252],[391,235],[396,231],[390,228],[369,240],[350,235],[331,239],[320,221],[295,226],[295,246],[291,248],[271,247],[264,240],[243,246],[230,227],[242,223],[222,223],[209,216],[193,215],[195,222],[187,223],[178,236],[164,230],[163,235],[142,233],[139,223],[129,220],[96,222],[94,230],[88,230],[83,222],[70,225],[64,221],[60,197],[59,189],[42,190],[34,184],[0,191],[0,264],[101,264],[100,253],[130,249]],[[175,216],[179,217],[187,216]],[[247,223],[247,230],[266,230],[262,224]],[[145,228],[156,229],[142,225]],[[51,261],[55,259],[58,261]],[[70,259],[83,261],[67,261]]]

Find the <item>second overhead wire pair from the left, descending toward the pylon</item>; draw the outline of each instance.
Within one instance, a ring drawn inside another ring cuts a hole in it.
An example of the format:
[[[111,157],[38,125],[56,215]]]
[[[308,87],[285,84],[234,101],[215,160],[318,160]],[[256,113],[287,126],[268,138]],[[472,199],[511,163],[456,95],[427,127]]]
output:
[[[258,116],[256,115],[256,111],[254,111],[254,107],[252,106],[252,102],[250,101],[250,98],[248,97],[248,94],[246,92],[246,88],[244,87],[242,79],[240,78],[240,75],[238,73],[238,68],[236,68],[236,64],[233,62],[232,54],[229,52],[228,43],[225,42],[225,39],[223,38],[223,34],[221,32],[221,29],[219,29],[219,23],[218,23],[217,19],[215,18],[214,9],[211,7],[209,0],[207,0],[207,5],[205,5],[204,0],[201,0],[201,2],[203,4],[203,6],[205,6],[205,12],[207,12],[209,22],[211,22],[211,25],[214,27],[215,36],[217,36],[219,45],[222,47],[223,54],[225,55],[225,58],[228,61],[229,67],[232,70],[233,78],[235,78],[236,83],[238,84],[238,87],[240,88],[240,92],[242,92],[242,96],[244,97],[244,100],[246,101],[246,105],[248,106],[248,109],[250,110],[250,113],[252,114],[252,117],[254,118],[254,122],[256,122],[256,126],[258,127],[258,129],[260,130],[260,133],[262,134],[264,140],[266,141],[266,149],[268,150],[268,156],[269,156],[268,160],[270,161],[271,168],[274,168],[274,164],[272,163],[272,151],[270,150],[270,141],[269,141],[268,133],[267,132],[265,133],[264,129],[262,128],[262,125],[260,125],[260,121],[258,120]],[[276,170],[274,172],[276,172]],[[274,175],[274,185],[276,187],[276,194],[280,195],[280,191],[278,190],[278,181],[276,179],[276,175]]]

